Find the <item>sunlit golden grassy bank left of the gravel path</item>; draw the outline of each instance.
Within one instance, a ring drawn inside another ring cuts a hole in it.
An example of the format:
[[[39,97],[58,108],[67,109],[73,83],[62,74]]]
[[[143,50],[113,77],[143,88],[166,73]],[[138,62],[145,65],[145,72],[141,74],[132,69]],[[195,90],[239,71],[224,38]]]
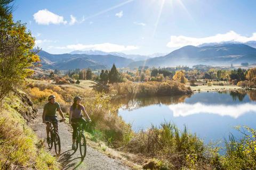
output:
[[[23,117],[5,98],[0,112],[0,169],[60,169]]]

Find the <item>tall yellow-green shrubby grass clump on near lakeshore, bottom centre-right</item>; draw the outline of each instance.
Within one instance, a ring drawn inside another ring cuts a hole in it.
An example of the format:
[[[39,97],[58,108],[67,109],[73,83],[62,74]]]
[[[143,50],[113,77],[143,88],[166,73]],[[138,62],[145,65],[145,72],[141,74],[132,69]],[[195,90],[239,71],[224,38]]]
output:
[[[202,161],[204,143],[196,134],[181,131],[172,123],[162,123],[158,128],[140,131],[135,140],[125,148],[133,154],[143,154],[149,159],[157,158],[169,164],[167,169],[194,167]]]

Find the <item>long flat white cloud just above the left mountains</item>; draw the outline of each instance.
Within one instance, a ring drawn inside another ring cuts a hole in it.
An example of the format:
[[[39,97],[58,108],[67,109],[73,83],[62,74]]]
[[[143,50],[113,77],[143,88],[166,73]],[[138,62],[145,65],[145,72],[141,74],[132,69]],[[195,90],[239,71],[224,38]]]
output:
[[[68,45],[66,47],[53,47],[53,46],[49,46],[49,47],[56,48],[56,49],[73,49],[73,50],[92,49],[92,50],[100,50],[102,52],[107,52],[107,53],[139,49],[139,47],[137,47],[137,46],[126,46],[125,47],[122,45],[116,45],[116,44],[110,44],[110,43],[95,44],[95,45],[77,44],[77,45]]]

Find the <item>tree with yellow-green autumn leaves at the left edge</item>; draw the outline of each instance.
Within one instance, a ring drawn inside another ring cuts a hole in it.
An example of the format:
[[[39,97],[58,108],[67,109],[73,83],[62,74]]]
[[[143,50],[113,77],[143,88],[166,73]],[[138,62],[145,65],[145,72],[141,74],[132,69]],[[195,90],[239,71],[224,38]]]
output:
[[[30,70],[32,67],[40,65],[36,55],[39,49],[32,50],[35,38],[26,31],[26,24],[14,23],[12,14],[7,12],[8,4],[7,8],[5,5],[0,2],[0,102],[10,90],[34,73]]]

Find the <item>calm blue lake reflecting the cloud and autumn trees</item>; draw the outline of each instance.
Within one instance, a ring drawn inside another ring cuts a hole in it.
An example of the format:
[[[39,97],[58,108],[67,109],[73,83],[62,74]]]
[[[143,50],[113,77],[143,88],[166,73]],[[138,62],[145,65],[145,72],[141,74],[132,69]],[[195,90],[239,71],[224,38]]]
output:
[[[256,91],[203,92],[187,96],[118,99],[119,115],[132,123],[134,131],[151,124],[172,122],[183,129],[185,124],[205,142],[239,137],[231,126],[246,125],[256,129]]]

